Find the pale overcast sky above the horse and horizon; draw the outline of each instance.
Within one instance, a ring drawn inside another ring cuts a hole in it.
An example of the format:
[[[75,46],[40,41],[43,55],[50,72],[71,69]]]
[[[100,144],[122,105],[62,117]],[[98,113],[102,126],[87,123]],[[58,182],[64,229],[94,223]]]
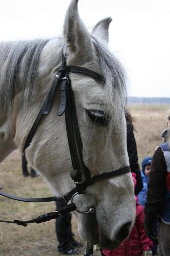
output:
[[[1,0],[0,40],[62,34],[70,0]],[[79,0],[85,25],[111,16],[109,45],[129,77],[129,95],[170,97],[170,1]]]

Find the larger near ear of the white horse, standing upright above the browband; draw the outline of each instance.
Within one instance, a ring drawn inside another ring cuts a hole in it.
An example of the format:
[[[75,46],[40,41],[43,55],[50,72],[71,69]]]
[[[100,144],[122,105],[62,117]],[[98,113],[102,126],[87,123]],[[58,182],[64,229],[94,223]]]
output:
[[[68,57],[75,57],[81,62],[91,60],[91,36],[79,16],[78,0],[72,0],[68,7],[64,22],[64,39]]]

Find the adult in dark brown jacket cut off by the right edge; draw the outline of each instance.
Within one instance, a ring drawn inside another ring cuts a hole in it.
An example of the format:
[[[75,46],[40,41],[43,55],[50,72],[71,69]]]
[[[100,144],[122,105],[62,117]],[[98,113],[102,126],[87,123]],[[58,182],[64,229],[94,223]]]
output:
[[[147,201],[144,208],[144,226],[150,238],[154,237],[153,226],[159,216],[158,245],[159,255],[170,255],[170,111],[168,129],[164,132],[165,142],[156,148],[152,159],[148,182]]]

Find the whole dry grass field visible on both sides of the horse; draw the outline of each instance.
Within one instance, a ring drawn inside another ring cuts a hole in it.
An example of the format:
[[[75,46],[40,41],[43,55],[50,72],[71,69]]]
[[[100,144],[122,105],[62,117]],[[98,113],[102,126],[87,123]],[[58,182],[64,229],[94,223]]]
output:
[[[166,127],[167,105],[131,105],[129,109],[134,117],[135,137],[138,148],[139,163],[145,156],[152,156],[155,147],[162,142],[161,133]],[[13,152],[0,164],[1,182],[4,191],[22,197],[51,196],[48,185],[41,177],[23,177],[19,153]],[[1,219],[29,220],[53,210],[54,203],[23,203],[4,197],[0,198]],[[72,226],[77,236],[76,219]],[[99,253],[95,253],[99,254]],[[1,256],[50,256],[60,255],[57,251],[55,221],[44,224],[30,224],[22,227],[14,224],[0,223]]]

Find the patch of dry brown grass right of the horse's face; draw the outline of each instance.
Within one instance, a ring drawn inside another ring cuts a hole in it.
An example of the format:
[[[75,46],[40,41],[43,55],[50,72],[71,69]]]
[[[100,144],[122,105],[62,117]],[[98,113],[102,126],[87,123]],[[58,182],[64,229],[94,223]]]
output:
[[[161,134],[167,124],[168,105],[131,105],[139,164],[144,157],[153,156],[157,145],[163,142]]]

